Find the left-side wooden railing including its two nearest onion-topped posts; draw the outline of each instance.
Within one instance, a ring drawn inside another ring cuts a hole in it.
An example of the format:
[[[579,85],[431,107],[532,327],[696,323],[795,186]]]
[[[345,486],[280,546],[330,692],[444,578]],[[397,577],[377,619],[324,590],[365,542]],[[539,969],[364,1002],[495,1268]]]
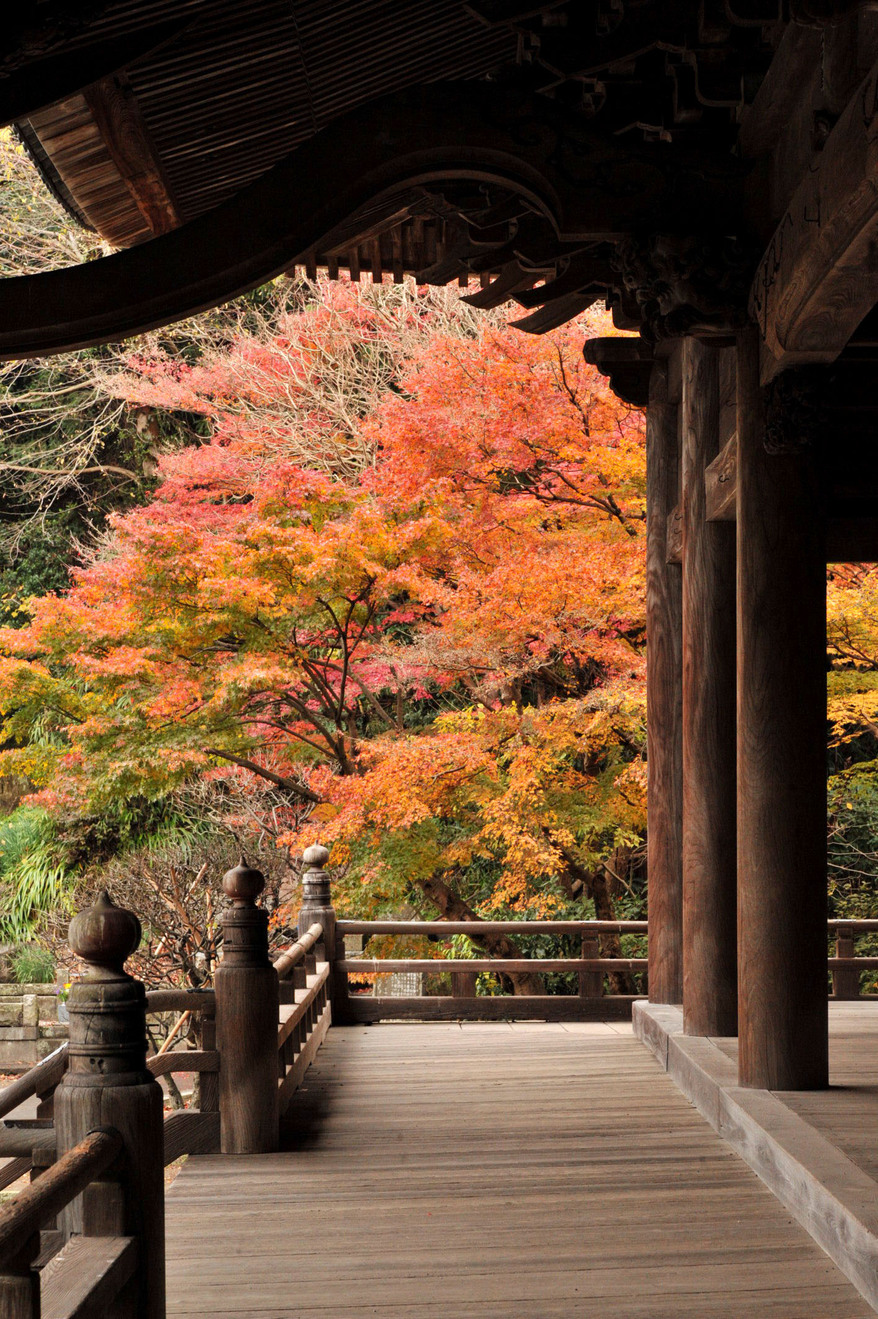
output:
[[[70,993],[70,1043],[0,1091],[0,1181],[32,1177],[0,1211],[0,1319],[165,1319],[163,1165],[278,1148],[278,1115],[332,1020],[334,913],[305,911],[306,933],[276,968],[254,901],[262,882],[245,865],[224,877],[214,991],[146,993],[124,971],[140,923],[105,894],[71,922],[87,972]],[[170,1047],[175,1028],[146,1058],[149,1013],[177,1013],[181,1029],[195,1020],[198,1047]],[[198,1076],[199,1107],[163,1119],[157,1078],[174,1072]],[[36,1119],[8,1116],[34,1096]],[[96,1116],[111,1126],[92,1130]]]

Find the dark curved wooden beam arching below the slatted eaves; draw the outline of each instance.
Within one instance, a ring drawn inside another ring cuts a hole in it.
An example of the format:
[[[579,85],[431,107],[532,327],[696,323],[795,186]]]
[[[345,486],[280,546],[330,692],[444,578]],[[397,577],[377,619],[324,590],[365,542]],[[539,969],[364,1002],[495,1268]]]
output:
[[[3,281],[0,359],[121,339],[206,310],[294,265],[363,207],[376,223],[401,190],[456,179],[514,191],[544,223],[550,248],[622,237],[657,214],[670,228],[728,224],[740,200],[733,161],[717,168],[674,144],[629,145],[546,99],[510,109],[492,83],[431,84],[334,120],[231,200],[153,243]]]

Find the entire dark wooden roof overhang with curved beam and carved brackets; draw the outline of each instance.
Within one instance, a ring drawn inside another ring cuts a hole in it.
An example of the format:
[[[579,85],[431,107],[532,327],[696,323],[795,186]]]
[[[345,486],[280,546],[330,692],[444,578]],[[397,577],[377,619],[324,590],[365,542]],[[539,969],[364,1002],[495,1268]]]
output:
[[[3,119],[117,251],[4,281],[0,355],[305,265],[475,277],[534,332],[596,299],[650,343],[757,315],[771,360],[811,360],[796,189],[877,57],[848,0],[30,0],[0,37]],[[614,365],[633,396],[643,364]]]

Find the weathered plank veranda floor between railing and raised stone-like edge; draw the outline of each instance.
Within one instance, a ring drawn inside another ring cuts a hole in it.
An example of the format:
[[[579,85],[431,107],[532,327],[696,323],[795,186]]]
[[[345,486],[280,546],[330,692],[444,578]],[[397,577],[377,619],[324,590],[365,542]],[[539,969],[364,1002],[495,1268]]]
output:
[[[873,1311],[626,1025],[332,1029],[289,1153],[191,1158],[169,1314]]]

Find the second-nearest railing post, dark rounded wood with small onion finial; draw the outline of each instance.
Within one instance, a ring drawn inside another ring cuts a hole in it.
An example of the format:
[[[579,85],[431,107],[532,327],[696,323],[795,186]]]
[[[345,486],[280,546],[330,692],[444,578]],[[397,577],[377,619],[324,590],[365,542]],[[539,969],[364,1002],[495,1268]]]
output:
[[[223,876],[232,900],[221,917],[223,960],[214,977],[223,1154],[269,1154],[278,1146],[279,995],[268,955],[268,913],[254,901],[264,888],[262,872],[244,857]]]

